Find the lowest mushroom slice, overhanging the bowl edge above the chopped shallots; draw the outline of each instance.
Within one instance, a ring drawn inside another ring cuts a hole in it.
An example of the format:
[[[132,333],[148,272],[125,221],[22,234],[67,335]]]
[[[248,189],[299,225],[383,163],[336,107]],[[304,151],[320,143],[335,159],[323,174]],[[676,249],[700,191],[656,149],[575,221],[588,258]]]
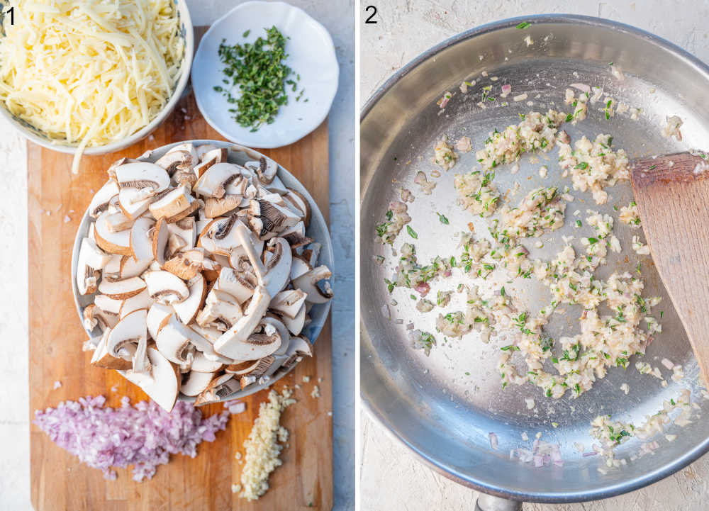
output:
[[[147,359],[152,371],[150,374],[118,371],[131,383],[143,389],[160,408],[170,412],[179,393],[180,378],[177,366],[174,366],[157,349],[147,348]]]

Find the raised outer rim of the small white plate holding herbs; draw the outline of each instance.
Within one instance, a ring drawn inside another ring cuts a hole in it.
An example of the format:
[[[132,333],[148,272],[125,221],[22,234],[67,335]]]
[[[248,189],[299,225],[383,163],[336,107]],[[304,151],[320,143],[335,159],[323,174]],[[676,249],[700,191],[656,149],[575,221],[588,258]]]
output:
[[[335,86],[335,90],[333,91],[332,97],[330,97],[330,99],[328,101],[328,103],[329,103],[328,109],[325,110],[323,115],[318,118],[318,122],[314,123],[313,128],[308,128],[308,131],[306,131],[305,133],[302,133],[302,135],[300,135],[300,136],[294,135],[290,138],[284,139],[285,141],[283,143],[279,143],[278,145],[269,144],[268,142],[265,142],[265,141],[263,143],[257,143],[257,142],[250,141],[247,144],[245,141],[239,140],[238,137],[235,137],[234,135],[231,135],[230,133],[228,133],[228,131],[223,130],[212,118],[210,118],[205,113],[206,108],[203,108],[203,103],[199,99],[199,94],[197,94],[196,89],[194,89],[194,99],[197,103],[197,108],[199,108],[199,112],[202,114],[202,117],[204,118],[204,120],[207,121],[208,125],[210,125],[214,130],[216,130],[217,133],[222,135],[225,139],[230,140],[231,142],[234,142],[235,144],[248,145],[248,147],[256,147],[257,149],[274,149],[276,147],[284,147],[286,145],[291,145],[292,143],[297,142],[298,140],[301,140],[301,138],[306,137],[306,135],[313,133],[313,131],[318,129],[318,127],[323,123],[323,121],[326,118],[328,118],[328,115],[330,114],[330,109],[333,106],[333,101],[335,101],[335,96],[337,96],[337,90],[340,89],[340,64],[337,62],[337,52],[335,52],[335,43],[333,42],[333,36],[330,35],[330,32],[328,31],[328,29],[325,28],[325,26],[322,23],[320,23],[320,21],[316,20],[316,18],[313,18],[313,16],[306,13],[306,11],[304,11],[300,7],[288,4],[287,2],[284,2],[284,1],[268,1],[267,2],[267,1],[262,1],[262,0],[249,0],[249,1],[243,2],[242,4],[238,4],[233,9],[231,9],[228,13],[225,13],[217,21],[212,23],[211,26],[208,28],[208,30],[204,33],[204,35],[202,35],[202,38],[199,42],[199,46],[197,47],[197,50],[194,54],[195,58],[199,58],[199,47],[202,45],[202,41],[206,40],[207,36],[212,31],[212,29],[214,29],[216,26],[218,26],[219,23],[223,22],[226,18],[231,16],[234,13],[234,11],[238,11],[239,9],[245,8],[245,6],[250,6],[252,4],[269,4],[269,6],[281,5],[287,9],[294,9],[295,11],[301,11],[301,13],[303,13],[303,16],[310,18],[311,22],[315,26],[317,26],[319,30],[322,30],[323,33],[327,36],[328,41],[330,43],[328,45],[327,51],[328,51],[328,53],[330,53],[332,55],[335,62],[337,63],[337,86]],[[193,67],[193,69],[194,69],[194,67]]]

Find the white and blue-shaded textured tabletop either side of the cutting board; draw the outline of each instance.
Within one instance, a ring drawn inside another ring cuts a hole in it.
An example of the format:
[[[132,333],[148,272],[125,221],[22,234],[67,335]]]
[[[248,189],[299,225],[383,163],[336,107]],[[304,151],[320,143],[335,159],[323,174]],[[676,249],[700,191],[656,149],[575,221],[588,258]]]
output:
[[[212,23],[239,3],[187,2],[195,26]],[[334,509],[350,511],[354,509],[354,0],[289,3],[307,11],[330,31],[340,63],[340,88],[329,119],[330,232],[335,248],[333,483]],[[0,392],[0,511],[26,511],[32,509],[26,144],[4,120],[0,120],[0,182],[9,190],[0,203],[0,344],[4,350],[0,371],[0,388],[4,389]],[[66,212],[52,214],[63,216]]]

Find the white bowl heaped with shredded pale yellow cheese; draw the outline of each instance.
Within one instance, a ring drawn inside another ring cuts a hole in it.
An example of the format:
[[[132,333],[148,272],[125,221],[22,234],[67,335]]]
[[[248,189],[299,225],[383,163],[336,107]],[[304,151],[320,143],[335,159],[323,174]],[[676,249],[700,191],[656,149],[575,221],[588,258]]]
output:
[[[0,114],[49,149],[121,150],[149,135],[189,80],[184,0],[11,0],[2,20]]]

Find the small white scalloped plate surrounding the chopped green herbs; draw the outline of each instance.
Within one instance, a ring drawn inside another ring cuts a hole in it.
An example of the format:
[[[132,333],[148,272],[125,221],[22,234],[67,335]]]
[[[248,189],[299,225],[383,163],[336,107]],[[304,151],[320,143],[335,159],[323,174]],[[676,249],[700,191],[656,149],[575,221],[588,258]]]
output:
[[[226,101],[214,86],[223,86],[224,65],[218,50],[223,39],[227,44],[253,43],[266,37],[267,28],[276,26],[288,37],[285,60],[292,70],[289,78],[301,79],[296,92],[289,92],[288,104],[281,106],[276,120],[257,131],[242,128],[233,118]],[[245,38],[243,34],[250,30]],[[232,9],[214,23],[199,43],[192,63],[192,86],[199,111],[223,137],[249,147],[281,147],[300,140],[325,120],[337,92],[340,67],[335,57],[335,45],[328,30],[302,9],[284,2],[247,1]],[[300,101],[298,92],[305,88]],[[308,99],[307,102],[303,101]]]

